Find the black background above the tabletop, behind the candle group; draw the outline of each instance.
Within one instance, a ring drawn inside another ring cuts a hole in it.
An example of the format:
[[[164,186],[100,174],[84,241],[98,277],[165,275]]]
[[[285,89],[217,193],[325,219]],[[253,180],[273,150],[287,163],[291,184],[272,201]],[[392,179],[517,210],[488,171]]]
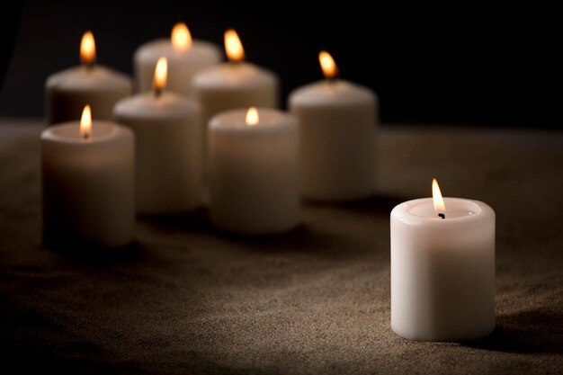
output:
[[[307,5],[307,6],[306,6]],[[321,77],[319,49],[341,75],[380,95],[385,123],[448,123],[559,129],[559,26],[541,4],[510,6],[298,1],[27,1],[0,94],[0,115],[42,115],[49,74],[78,62],[85,30],[98,61],[131,73],[135,49],[187,22],[194,38],[222,45],[237,29],[246,57],[281,76],[283,97]],[[2,37],[8,54],[13,35]],[[556,69],[557,67],[557,69]]]

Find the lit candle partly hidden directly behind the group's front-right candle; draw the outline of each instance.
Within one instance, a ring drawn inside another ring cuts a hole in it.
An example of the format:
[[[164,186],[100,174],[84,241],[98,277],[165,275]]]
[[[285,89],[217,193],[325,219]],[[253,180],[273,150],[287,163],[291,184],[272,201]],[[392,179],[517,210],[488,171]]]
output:
[[[225,32],[229,63],[201,70],[192,80],[193,94],[201,103],[204,123],[211,116],[250,106],[278,106],[279,80],[269,70],[243,61],[245,51],[237,32]]]

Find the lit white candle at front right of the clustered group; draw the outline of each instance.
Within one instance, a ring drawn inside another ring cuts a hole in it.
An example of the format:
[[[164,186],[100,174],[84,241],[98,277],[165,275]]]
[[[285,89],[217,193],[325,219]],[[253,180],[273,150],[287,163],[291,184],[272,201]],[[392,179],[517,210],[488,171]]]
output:
[[[210,218],[242,234],[299,223],[299,127],[272,109],[234,110],[210,121]]]

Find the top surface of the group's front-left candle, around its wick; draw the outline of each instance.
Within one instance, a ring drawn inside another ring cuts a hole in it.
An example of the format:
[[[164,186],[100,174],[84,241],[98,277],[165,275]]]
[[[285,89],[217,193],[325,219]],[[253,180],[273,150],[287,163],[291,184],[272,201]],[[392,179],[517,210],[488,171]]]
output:
[[[131,132],[110,121],[92,121],[89,138],[80,133],[80,121],[68,121],[49,126],[41,132],[41,139],[67,144],[96,144],[115,138],[119,133]]]

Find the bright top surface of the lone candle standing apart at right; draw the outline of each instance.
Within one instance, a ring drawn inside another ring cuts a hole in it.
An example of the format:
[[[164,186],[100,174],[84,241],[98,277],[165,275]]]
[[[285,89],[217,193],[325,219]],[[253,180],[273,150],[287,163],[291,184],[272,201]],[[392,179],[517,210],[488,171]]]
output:
[[[478,219],[483,215],[495,215],[495,211],[482,201],[444,197],[446,210],[436,212],[432,198],[422,198],[400,203],[391,211],[391,216],[409,224],[423,222],[442,225],[446,222]],[[443,219],[439,214],[443,215]]]

